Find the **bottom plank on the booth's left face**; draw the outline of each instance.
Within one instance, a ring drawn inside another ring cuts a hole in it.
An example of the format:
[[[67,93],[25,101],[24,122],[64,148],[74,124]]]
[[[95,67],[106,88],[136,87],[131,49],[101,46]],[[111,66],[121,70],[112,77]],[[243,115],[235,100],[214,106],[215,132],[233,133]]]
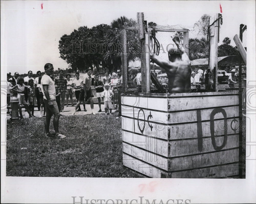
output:
[[[152,178],[161,178],[161,173],[166,174],[165,171],[155,168],[144,161],[134,159],[125,153],[123,153],[123,165]]]

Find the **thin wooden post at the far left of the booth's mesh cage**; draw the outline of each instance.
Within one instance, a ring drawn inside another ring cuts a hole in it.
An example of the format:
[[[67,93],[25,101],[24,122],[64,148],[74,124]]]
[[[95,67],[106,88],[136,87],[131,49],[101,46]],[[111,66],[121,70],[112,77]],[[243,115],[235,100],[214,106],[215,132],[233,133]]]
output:
[[[122,45],[123,45],[123,50],[122,50],[122,56],[121,56],[121,61],[122,61],[122,77],[123,77],[123,86],[125,90],[127,90],[127,43],[126,43],[126,30],[121,30],[121,35],[122,35]]]

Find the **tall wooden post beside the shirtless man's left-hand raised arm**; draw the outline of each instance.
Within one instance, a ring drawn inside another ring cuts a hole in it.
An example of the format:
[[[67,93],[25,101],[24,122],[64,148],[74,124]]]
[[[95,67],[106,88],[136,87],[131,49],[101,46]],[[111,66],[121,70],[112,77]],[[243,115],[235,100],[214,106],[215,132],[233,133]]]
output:
[[[137,13],[138,20],[138,38],[141,41],[141,86],[143,93],[150,93],[150,53],[149,53],[149,34],[144,32],[144,14]]]

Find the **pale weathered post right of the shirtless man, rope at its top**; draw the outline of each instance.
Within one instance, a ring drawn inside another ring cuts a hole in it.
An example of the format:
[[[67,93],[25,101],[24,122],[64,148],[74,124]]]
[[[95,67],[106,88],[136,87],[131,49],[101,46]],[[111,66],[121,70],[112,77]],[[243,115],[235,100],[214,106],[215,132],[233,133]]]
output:
[[[212,24],[217,18],[219,14],[210,17],[210,24]],[[217,20],[210,27],[210,80],[209,80],[209,89],[210,91],[218,91],[218,79],[217,79],[217,71],[218,71],[218,30],[219,30],[219,20]]]

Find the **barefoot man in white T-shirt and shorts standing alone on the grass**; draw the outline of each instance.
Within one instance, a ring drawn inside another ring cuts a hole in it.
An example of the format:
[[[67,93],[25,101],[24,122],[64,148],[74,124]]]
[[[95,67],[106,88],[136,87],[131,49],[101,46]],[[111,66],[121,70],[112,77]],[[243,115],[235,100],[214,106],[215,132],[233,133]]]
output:
[[[47,63],[45,65],[45,74],[42,76],[41,79],[42,93],[44,95],[44,103],[46,109],[45,131],[46,136],[54,136],[50,134],[49,131],[51,116],[52,114],[54,114],[53,126],[55,130],[55,137],[65,138],[65,135],[59,133],[60,113],[56,102],[55,85],[52,79],[50,78],[50,75],[53,74],[53,70],[53,65],[51,63]]]

